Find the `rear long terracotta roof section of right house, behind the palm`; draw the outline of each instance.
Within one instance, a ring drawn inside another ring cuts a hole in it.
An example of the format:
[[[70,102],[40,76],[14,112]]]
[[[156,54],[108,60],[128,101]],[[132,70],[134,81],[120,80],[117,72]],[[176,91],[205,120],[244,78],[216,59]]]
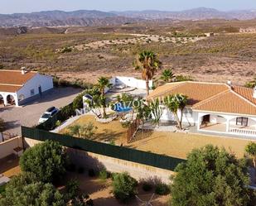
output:
[[[182,93],[189,98],[189,105],[194,105],[228,90],[229,87],[226,84],[183,82],[181,84],[165,84],[158,87],[150,93],[147,99],[165,97],[173,93]]]

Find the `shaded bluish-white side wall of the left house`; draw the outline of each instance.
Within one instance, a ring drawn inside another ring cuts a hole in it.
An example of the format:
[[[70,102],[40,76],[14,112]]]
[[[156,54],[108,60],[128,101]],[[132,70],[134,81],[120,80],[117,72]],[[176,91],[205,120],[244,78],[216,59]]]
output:
[[[24,95],[26,98],[31,98],[36,94],[39,94],[38,87],[41,86],[41,92],[46,92],[53,88],[53,80],[51,76],[36,74],[32,79],[28,80],[27,83],[17,92],[18,97]],[[31,89],[34,89],[34,95],[31,95]]]

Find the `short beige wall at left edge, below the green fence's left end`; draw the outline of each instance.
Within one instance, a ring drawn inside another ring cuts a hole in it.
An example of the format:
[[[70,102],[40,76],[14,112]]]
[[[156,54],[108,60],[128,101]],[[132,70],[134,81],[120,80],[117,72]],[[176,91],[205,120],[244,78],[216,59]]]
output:
[[[0,143],[0,159],[12,155],[13,149],[18,146],[23,147],[22,137],[14,137],[10,140]]]

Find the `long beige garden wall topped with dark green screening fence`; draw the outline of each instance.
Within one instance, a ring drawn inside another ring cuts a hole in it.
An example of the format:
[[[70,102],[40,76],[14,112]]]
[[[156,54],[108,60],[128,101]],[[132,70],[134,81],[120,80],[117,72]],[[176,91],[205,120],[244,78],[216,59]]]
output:
[[[171,156],[112,146],[29,127],[22,127],[22,137],[26,146],[34,146],[46,140],[59,141],[62,146],[67,147],[70,158],[76,165],[88,169],[104,167],[111,172],[128,171],[136,179],[157,176],[167,182],[176,165],[185,161]]]

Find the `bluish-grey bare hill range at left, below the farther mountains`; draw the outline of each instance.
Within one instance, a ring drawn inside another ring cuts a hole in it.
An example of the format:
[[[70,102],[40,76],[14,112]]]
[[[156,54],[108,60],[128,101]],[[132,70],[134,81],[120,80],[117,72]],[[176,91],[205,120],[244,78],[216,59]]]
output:
[[[0,26],[106,26],[134,22],[130,17],[118,17],[111,12],[80,10],[75,12],[49,11],[0,14]]]

